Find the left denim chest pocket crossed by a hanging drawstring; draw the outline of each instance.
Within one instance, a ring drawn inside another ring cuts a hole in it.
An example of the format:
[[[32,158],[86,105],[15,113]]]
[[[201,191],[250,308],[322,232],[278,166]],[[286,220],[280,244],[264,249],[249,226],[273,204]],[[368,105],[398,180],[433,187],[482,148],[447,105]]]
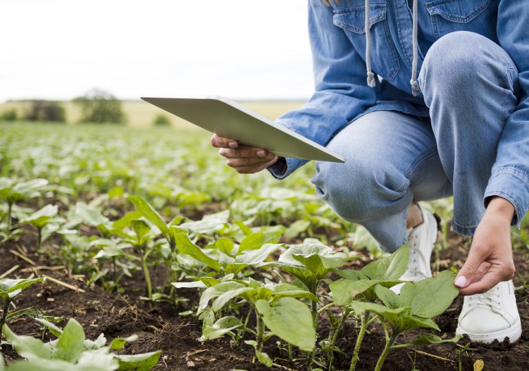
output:
[[[346,32],[354,49],[365,60],[365,5],[335,9],[333,23]],[[371,65],[373,72],[385,80],[393,80],[400,65],[387,25],[386,5],[369,5]]]

